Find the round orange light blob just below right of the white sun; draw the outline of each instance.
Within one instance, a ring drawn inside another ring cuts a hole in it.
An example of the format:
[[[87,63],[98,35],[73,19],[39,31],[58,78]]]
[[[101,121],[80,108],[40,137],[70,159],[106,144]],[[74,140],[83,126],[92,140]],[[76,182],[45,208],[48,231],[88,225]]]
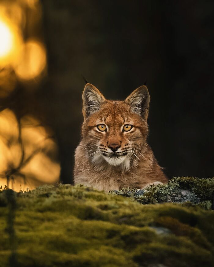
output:
[[[23,80],[34,79],[46,67],[46,50],[40,42],[28,41],[23,46],[21,59],[15,67],[17,76]]]

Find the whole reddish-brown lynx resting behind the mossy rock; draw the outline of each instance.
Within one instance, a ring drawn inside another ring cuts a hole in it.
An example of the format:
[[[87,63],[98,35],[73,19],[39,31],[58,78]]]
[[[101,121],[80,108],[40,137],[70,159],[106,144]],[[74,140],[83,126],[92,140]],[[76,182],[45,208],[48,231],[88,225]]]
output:
[[[94,85],[86,84],[82,139],[75,152],[75,184],[108,192],[168,181],[146,141],[149,101],[145,85],[125,101],[112,101]]]

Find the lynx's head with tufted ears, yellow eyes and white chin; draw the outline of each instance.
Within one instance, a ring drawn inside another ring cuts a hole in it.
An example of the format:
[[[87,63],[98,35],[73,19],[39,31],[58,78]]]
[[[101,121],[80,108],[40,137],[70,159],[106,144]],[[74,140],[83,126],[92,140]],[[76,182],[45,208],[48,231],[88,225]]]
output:
[[[89,83],[83,91],[82,142],[94,164],[107,162],[128,170],[143,156],[148,134],[149,92],[145,85],[124,101],[111,101]]]

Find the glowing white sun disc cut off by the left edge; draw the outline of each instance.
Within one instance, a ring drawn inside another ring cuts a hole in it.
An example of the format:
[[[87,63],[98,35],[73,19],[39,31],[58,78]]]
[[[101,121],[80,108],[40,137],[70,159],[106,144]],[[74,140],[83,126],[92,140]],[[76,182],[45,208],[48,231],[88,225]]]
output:
[[[0,21],[0,57],[7,56],[13,46],[13,35],[6,23]]]

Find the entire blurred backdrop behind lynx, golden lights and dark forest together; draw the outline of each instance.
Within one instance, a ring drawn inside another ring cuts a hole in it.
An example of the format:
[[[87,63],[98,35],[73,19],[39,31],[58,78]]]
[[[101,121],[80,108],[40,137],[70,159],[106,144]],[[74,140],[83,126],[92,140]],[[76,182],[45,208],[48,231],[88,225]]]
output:
[[[214,175],[214,2],[1,0],[0,186],[72,183],[82,75],[108,99],[145,80],[169,178]]]

